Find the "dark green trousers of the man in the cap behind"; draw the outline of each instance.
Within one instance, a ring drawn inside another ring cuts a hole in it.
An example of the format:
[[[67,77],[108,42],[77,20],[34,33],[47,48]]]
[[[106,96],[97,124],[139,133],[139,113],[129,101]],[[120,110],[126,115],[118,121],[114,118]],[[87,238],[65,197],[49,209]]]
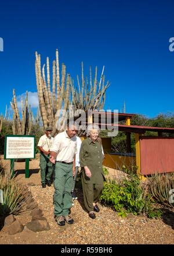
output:
[[[41,183],[50,182],[53,173],[53,164],[49,161],[49,156],[41,153],[39,166],[41,167]]]

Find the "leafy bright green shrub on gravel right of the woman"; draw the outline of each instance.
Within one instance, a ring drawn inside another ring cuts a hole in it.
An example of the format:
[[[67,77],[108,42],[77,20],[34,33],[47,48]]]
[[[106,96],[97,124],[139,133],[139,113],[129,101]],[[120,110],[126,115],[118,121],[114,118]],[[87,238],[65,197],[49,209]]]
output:
[[[133,215],[146,213],[149,218],[160,215],[159,211],[154,211],[147,185],[140,185],[139,177],[135,174],[119,182],[106,181],[100,199],[112,205],[122,217],[125,217],[127,213],[133,213]]]

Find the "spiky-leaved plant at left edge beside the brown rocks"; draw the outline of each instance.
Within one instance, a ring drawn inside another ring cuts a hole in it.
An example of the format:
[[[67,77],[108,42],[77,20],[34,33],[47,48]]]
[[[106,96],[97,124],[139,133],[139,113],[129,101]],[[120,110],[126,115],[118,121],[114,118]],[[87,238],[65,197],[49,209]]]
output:
[[[25,188],[17,183],[16,177],[0,173],[0,190],[3,195],[3,204],[0,204],[0,216],[19,215],[23,213],[26,199]]]

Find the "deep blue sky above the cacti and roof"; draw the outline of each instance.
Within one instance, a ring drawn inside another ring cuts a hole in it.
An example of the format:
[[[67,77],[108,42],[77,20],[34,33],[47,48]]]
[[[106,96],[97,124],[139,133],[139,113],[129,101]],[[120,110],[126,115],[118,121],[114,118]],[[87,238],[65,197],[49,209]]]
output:
[[[172,0],[49,0],[3,1],[0,6],[1,108],[28,90],[35,107],[35,51],[55,59],[59,49],[75,82],[89,66],[94,75],[105,66],[107,89],[104,109],[155,117],[174,111],[174,37]],[[99,79],[99,76],[98,76]],[[76,82],[77,84],[77,82]]]

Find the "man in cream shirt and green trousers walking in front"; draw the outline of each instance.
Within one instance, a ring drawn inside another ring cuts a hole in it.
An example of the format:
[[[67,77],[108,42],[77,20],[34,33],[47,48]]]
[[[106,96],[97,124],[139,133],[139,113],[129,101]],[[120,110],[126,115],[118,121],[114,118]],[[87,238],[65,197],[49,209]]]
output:
[[[54,206],[55,220],[58,225],[73,224],[69,215],[72,206],[71,190],[73,187],[73,174],[75,174],[75,153],[77,148],[77,128],[68,124],[64,132],[55,136],[50,149],[50,162],[55,163],[54,173]]]

